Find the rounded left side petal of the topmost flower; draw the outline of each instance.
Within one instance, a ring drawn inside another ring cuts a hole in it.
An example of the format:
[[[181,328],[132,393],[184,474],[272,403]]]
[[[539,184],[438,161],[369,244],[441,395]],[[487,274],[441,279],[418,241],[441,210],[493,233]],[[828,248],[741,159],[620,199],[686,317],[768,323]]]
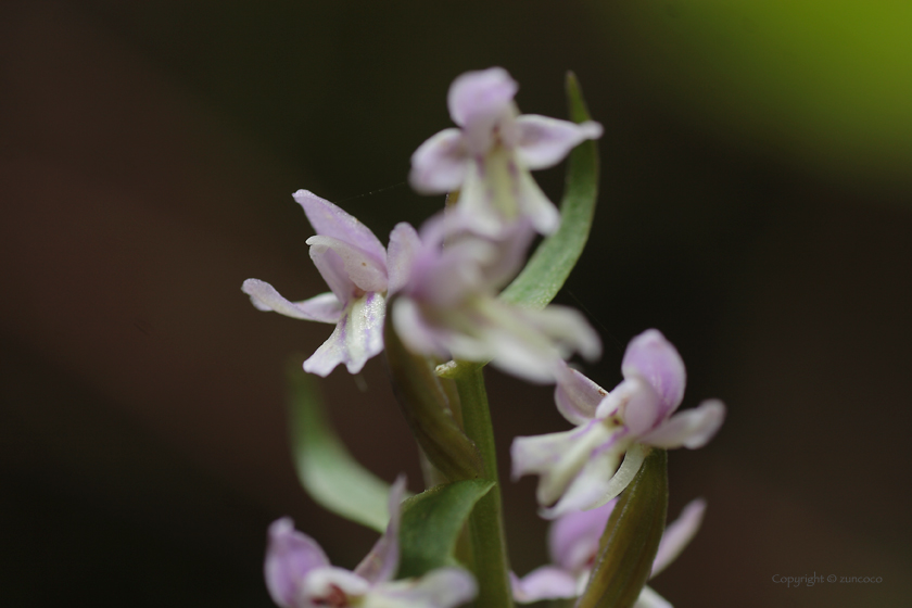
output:
[[[419,145],[411,155],[408,182],[420,194],[458,190],[466,179],[468,160],[463,132],[444,129]]]

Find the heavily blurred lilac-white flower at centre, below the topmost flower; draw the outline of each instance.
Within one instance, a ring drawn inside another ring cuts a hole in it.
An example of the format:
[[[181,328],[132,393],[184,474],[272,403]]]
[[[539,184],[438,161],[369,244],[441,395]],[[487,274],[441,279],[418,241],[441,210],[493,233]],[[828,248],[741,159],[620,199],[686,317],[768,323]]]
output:
[[[414,353],[442,359],[487,362],[532,382],[554,382],[555,369],[573,352],[596,358],[595,330],[572,308],[522,308],[497,291],[522,266],[534,237],[527,221],[499,240],[470,233],[447,238],[449,217],[431,218],[418,232],[400,224],[390,235],[392,320]]]

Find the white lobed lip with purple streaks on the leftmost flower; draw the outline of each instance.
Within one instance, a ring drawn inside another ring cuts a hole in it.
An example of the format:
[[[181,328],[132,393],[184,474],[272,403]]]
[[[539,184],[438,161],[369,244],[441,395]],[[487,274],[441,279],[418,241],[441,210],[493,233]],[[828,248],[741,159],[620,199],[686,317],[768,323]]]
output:
[[[357,373],[367,359],[383,351],[385,300],[379,293],[366,293],[350,304],[332,335],[304,362],[304,371],[327,377],[344,363],[350,373]]]

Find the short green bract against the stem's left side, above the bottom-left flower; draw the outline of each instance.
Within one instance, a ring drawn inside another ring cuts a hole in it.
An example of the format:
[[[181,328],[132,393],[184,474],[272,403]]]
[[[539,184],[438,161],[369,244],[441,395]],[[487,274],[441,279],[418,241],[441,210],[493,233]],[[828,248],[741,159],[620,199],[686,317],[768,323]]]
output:
[[[438,485],[402,505],[397,578],[421,577],[444,566],[458,566],[456,542],[474,504],[493,481],[470,479]]]

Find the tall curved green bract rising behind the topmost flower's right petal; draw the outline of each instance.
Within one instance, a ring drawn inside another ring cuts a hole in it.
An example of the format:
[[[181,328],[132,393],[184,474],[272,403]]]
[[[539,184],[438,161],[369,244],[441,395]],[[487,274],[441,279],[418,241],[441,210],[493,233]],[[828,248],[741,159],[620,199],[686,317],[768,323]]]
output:
[[[580,83],[572,72],[567,75],[567,101],[574,123],[590,119]],[[597,194],[598,148],[595,141],[587,140],[570,153],[560,202],[560,228],[542,241],[501,297],[531,308],[544,308],[554,300],[588,240]]]

